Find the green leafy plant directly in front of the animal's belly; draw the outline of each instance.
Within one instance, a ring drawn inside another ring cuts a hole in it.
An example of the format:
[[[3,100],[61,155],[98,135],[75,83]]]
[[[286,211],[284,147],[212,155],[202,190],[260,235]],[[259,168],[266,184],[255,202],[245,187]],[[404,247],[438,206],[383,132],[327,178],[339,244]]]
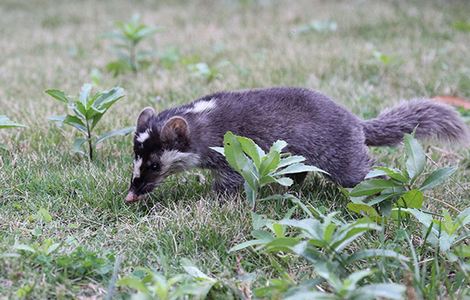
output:
[[[283,153],[287,146],[285,141],[275,142],[266,153],[253,140],[227,132],[224,135],[224,147],[212,147],[227,159],[230,167],[245,179],[244,189],[249,203],[255,208],[261,188],[271,183],[291,186],[293,180],[286,177],[290,174],[303,172],[325,171],[303,164],[305,158]]]

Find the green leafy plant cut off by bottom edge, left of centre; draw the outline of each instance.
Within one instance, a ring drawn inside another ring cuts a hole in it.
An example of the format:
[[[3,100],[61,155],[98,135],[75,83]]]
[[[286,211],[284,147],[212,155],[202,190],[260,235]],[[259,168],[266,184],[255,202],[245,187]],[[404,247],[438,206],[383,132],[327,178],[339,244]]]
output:
[[[185,274],[167,277],[148,268],[139,268],[133,275],[125,276],[118,285],[137,290],[134,299],[180,299],[188,296],[205,299],[218,280],[204,274],[190,261],[183,259]]]

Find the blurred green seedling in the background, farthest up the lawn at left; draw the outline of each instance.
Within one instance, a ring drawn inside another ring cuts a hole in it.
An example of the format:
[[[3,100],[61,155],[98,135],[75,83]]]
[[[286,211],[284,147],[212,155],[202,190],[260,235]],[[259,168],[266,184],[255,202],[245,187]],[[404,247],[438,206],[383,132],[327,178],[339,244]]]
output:
[[[138,46],[158,30],[159,28],[141,23],[139,15],[134,15],[128,22],[118,22],[116,30],[106,34],[106,37],[115,41],[113,48],[118,59],[110,62],[106,69],[114,76],[127,71],[137,73],[148,64],[151,54],[149,51],[139,50]]]

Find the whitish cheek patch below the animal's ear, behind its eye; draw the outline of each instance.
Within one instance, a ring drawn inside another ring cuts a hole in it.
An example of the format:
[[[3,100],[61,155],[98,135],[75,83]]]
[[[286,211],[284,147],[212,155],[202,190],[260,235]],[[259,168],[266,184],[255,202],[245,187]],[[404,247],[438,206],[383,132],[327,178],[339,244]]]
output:
[[[190,152],[179,152],[178,150],[165,150],[160,157],[162,174],[166,175],[184,171],[199,165],[199,155]]]

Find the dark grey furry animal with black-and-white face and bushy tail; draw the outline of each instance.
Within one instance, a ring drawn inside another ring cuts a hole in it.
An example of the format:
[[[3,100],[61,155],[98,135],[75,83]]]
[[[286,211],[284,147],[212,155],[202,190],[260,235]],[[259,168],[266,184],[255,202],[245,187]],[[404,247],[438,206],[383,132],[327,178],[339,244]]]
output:
[[[267,150],[278,139],[287,151],[352,187],[369,172],[367,146],[393,146],[416,129],[418,138],[467,143],[469,131],[449,106],[411,100],[363,121],[319,92],[291,87],[220,92],[157,114],[146,108],[134,137],[134,172],[126,201],[151,192],[176,172],[212,170],[216,191],[237,190],[243,180],[210,147],[222,146],[227,131]]]

